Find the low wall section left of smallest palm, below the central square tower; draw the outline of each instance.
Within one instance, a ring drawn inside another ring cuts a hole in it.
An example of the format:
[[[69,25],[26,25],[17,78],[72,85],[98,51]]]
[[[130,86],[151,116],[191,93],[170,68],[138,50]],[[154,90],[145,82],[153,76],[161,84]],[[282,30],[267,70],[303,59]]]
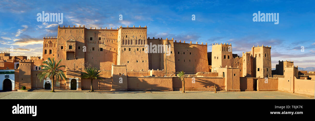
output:
[[[128,90],[173,91],[172,77],[128,77]]]

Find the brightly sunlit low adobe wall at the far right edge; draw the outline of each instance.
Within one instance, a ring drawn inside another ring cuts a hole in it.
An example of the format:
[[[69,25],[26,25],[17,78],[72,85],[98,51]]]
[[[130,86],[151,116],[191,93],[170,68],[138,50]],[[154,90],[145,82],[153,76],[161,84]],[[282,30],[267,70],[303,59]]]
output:
[[[313,95],[315,92],[315,81],[314,80],[294,80],[294,93]]]

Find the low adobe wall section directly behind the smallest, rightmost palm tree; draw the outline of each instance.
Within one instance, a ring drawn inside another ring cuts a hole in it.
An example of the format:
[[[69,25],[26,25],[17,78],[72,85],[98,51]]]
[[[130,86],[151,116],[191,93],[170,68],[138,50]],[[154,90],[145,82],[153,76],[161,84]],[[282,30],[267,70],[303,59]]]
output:
[[[195,83],[193,83],[193,79]],[[224,90],[225,80],[220,77],[186,77],[185,90],[186,91],[215,91]],[[173,88],[175,91],[182,90],[182,81],[178,77],[173,77]]]

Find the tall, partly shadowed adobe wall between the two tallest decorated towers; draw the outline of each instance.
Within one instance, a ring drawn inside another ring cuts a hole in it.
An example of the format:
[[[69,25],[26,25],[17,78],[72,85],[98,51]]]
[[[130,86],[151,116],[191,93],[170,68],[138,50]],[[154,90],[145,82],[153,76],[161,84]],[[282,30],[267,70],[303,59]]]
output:
[[[86,37],[84,44],[87,47],[85,63],[92,64],[100,70],[111,70],[112,63],[117,64],[118,30],[86,29],[84,36]]]

